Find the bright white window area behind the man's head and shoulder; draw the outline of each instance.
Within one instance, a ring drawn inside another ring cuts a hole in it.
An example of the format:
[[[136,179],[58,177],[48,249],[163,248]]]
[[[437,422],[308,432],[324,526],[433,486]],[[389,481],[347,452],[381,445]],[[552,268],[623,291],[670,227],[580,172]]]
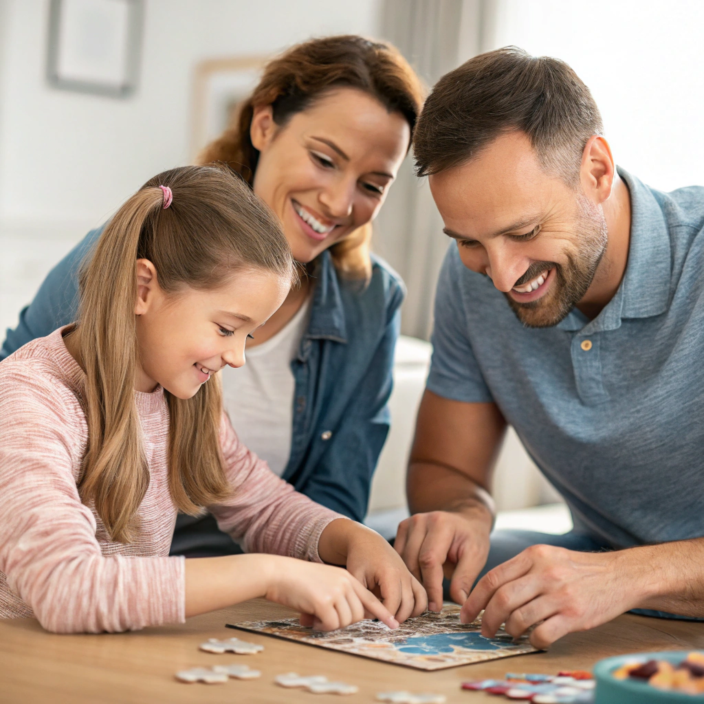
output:
[[[704,184],[703,2],[489,0],[485,18],[484,51],[516,44],[574,68],[617,163],[663,190]]]

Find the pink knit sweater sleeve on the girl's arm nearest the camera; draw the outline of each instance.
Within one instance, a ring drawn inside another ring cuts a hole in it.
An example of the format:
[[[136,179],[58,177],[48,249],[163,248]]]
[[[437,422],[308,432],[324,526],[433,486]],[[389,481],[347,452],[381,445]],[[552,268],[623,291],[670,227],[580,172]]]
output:
[[[78,495],[85,425],[75,396],[26,360],[0,374],[0,571],[49,631],[184,621],[184,560],[103,556]],[[9,365],[9,366],[8,366]]]

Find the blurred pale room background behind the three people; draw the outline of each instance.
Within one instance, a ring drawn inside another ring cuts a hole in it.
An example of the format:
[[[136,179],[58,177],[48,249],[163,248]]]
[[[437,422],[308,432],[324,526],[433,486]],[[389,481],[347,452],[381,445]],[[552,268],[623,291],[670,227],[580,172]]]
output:
[[[427,84],[516,44],[562,58],[591,88],[617,162],[659,189],[704,184],[699,0],[0,0],[0,329],[51,268],[154,174],[227,125],[263,61],[325,34],[394,42]],[[375,223],[408,284],[394,427],[370,522],[405,511],[403,474],[448,245],[410,160]],[[562,532],[569,516],[509,434],[494,493],[502,525]],[[548,508],[524,509],[538,505]]]

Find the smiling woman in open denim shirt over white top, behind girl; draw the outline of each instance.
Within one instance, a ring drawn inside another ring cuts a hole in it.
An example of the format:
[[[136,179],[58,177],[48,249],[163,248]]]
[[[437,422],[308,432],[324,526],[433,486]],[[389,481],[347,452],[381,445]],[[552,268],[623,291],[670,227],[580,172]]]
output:
[[[254,333],[248,363],[223,375],[232,425],[295,489],[354,520],[389,429],[403,300],[401,280],[370,255],[370,223],[408,152],[421,95],[392,47],[314,39],[267,65],[237,124],[200,160],[227,163],[251,185],[308,274]],[[74,320],[76,272],[101,230],[49,273],[5,356]],[[212,517],[179,518],[173,553],[237,550]]]

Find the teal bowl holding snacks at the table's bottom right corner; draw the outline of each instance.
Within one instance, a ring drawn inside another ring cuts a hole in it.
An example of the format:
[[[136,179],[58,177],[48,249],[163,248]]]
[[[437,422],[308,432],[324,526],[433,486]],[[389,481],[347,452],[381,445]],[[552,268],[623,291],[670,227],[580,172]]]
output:
[[[633,653],[618,655],[616,658],[599,660],[594,665],[596,691],[594,704],[648,704],[657,702],[696,702],[704,701],[704,695],[670,692],[650,686],[637,679],[614,679],[611,673],[627,662],[648,662],[648,660],[667,660],[678,665],[691,650],[666,650],[660,653]]]

